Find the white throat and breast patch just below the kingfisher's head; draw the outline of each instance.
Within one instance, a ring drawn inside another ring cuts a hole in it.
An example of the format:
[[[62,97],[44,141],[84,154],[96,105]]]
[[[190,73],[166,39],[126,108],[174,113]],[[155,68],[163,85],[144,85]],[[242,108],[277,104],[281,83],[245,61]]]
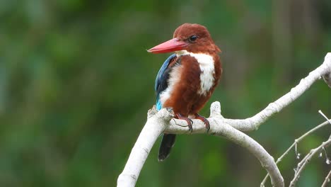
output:
[[[187,52],[187,50],[181,50],[177,52],[178,57],[182,55],[190,55],[191,57],[194,57],[199,63],[201,74],[200,74],[200,90],[198,91],[198,94],[206,95],[214,84],[214,74],[215,74],[214,58],[211,57],[211,55],[207,55],[203,53]]]

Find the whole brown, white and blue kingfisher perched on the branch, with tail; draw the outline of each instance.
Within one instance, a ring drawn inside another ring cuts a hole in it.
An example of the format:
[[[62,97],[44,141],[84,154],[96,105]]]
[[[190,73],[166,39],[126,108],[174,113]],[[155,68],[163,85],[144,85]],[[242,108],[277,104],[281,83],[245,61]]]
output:
[[[156,108],[173,108],[175,118],[185,120],[192,132],[192,120],[199,119],[209,130],[209,121],[198,112],[202,109],[222,74],[221,52],[206,27],[184,23],[173,33],[173,39],[147,50],[151,53],[173,52],[156,76]],[[170,154],[176,135],[163,134],[158,151],[162,162]]]

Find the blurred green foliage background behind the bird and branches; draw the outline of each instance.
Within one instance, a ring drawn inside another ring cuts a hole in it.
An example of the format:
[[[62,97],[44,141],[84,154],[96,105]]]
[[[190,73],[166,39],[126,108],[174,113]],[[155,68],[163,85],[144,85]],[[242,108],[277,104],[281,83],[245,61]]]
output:
[[[223,76],[211,101],[248,118],[298,84],[331,49],[331,1],[0,1],[0,186],[115,186],[153,106],[169,54],[146,49],[182,23],[207,26]],[[331,117],[331,89],[317,81],[248,135],[274,157]],[[330,127],[298,146],[304,154]],[[180,135],[165,162],[153,147],[137,186],[260,186],[265,170],[221,137]],[[331,157],[331,152],[329,153]],[[286,184],[298,163],[280,164]],[[315,158],[298,186],[330,170]],[[269,186],[269,183],[267,183]]]

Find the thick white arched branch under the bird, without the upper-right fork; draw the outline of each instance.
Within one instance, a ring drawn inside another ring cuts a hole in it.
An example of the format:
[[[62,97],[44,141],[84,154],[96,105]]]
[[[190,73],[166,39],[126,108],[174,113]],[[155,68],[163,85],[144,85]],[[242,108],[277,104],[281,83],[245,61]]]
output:
[[[216,115],[215,111],[220,109],[219,102],[214,102],[211,105],[211,113]],[[117,179],[117,186],[134,186],[137,182],[137,178],[140,174],[141,168],[144,165],[144,162],[156,141],[157,137],[161,135],[163,130],[165,132],[171,132],[176,134],[184,134],[187,133],[187,128],[182,127],[174,122],[174,120],[169,120],[172,118],[172,115],[168,111],[164,109],[155,114],[155,108],[151,110],[151,115],[149,115],[149,119],[144,126],[144,129],[141,131],[141,134],[138,137],[136,144],[134,145],[134,149],[129,156],[127,164],[124,167],[122,174],[120,174]],[[220,115],[220,114],[219,114]],[[176,120],[181,122],[181,120]],[[232,128],[230,125],[219,123],[218,117],[209,118],[209,123],[211,125],[211,129],[209,132],[213,135],[221,135],[227,137],[228,140],[235,142],[236,144],[245,147],[252,154],[260,160],[261,164],[268,171],[270,176],[272,176],[272,183],[274,186],[284,186],[284,180],[277,168],[274,159],[268,154],[268,152],[255,140],[253,140],[248,135],[245,135],[243,132]],[[167,126],[167,124],[170,124]],[[199,127],[199,125],[204,126],[200,120],[194,120],[193,128]],[[197,132],[193,130],[193,132]],[[202,133],[205,133],[206,130]],[[146,142],[149,141],[149,142]],[[140,157],[137,157],[140,155]]]

